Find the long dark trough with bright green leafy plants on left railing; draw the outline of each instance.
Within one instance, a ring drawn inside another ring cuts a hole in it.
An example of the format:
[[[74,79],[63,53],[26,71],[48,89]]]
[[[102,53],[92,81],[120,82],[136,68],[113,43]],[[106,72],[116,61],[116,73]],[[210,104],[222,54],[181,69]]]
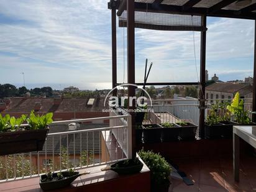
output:
[[[52,112],[36,116],[34,111],[29,117],[22,115],[17,119],[0,115],[0,155],[42,150],[52,116]],[[21,125],[24,121],[28,126]]]

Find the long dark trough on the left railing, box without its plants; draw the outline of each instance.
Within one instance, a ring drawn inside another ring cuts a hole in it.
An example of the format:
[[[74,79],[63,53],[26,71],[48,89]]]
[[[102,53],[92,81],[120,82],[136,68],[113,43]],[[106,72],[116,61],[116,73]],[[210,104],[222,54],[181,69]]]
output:
[[[0,134],[0,155],[35,152],[43,149],[47,129],[4,132]]]

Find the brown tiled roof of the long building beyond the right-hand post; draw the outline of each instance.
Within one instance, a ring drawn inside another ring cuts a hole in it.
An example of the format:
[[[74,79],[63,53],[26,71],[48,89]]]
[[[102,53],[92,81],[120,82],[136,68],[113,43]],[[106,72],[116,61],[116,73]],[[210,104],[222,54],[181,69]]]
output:
[[[245,84],[233,84],[233,83],[213,83],[212,85],[206,86],[206,91],[217,91],[222,93],[236,93],[245,96],[252,92],[252,86]]]

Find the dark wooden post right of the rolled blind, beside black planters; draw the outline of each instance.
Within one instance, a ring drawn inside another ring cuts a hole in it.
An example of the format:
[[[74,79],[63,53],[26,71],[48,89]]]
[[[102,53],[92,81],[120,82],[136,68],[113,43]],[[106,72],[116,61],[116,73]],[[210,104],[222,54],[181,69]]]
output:
[[[206,29],[206,16],[201,17],[203,27]],[[200,52],[200,86],[199,89],[199,137],[204,139],[204,107],[205,107],[205,70],[206,70],[206,30],[201,32],[201,52]]]

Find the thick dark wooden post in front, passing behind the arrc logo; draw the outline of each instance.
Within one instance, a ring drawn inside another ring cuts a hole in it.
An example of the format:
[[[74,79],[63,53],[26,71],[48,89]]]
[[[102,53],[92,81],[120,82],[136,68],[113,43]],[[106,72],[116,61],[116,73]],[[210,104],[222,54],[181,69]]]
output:
[[[135,84],[135,33],[134,33],[134,0],[127,1],[127,77],[129,84]],[[128,97],[135,96],[135,87],[128,86]],[[129,109],[135,109],[135,101]],[[135,157],[135,113],[132,116],[132,157]]]

